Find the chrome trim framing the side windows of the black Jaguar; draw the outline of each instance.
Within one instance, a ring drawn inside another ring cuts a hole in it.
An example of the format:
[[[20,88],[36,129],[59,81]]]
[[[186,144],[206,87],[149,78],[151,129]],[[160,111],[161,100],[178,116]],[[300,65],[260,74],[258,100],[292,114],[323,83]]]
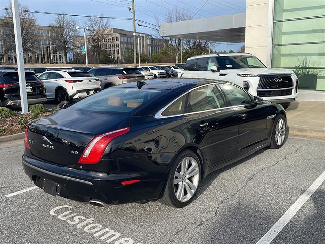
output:
[[[198,87],[194,87],[190,90],[188,90],[186,93],[183,93],[182,95],[180,95],[179,97],[175,98],[172,102],[168,103],[166,106],[164,106],[163,108],[161,108],[155,115],[154,118],[160,119],[160,118],[172,118],[172,117],[178,117],[178,116],[186,116],[186,115],[191,115],[191,114],[196,114],[196,113],[205,113],[205,112],[212,112],[212,111],[216,111],[216,110],[221,110],[221,109],[229,109],[229,108],[236,108],[236,107],[243,107],[246,106],[247,104],[244,105],[236,105],[236,106],[228,106],[228,107],[223,107],[223,108],[214,108],[214,109],[209,109],[209,110],[204,110],[204,111],[197,111],[197,112],[190,112],[190,113],[181,113],[181,114],[175,114],[175,115],[168,115],[168,116],[163,116],[162,113],[165,111],[165,109],[167,109],[173,102],[175,102],[177,99],[181,98],[182,96],[190,93],[192,90],[201,88],[203,86],[207,86],[207,85],[213,85],[213,84],[228,84],[226,82],[213,82],[213,83],[209,83],[209,84],[204,84],[204,85],[200,85]],[[235,85],[235,84],[234,84]],[[235,85],[238,86],[238,85]],[[238,86],[239,87],[239,86]],[[245,91],[246,92],[246,91]],[[247,92],[246,92],[247,93]]]

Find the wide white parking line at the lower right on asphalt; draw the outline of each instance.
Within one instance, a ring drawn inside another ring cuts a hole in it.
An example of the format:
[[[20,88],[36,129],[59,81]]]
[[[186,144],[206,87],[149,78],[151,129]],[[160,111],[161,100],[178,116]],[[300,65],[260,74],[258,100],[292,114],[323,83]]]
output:
[[[325,171],[313,182],[313,184],[301,195],[297,201],[282,215],[271,229],[257,242],[257,244],[269,244],[280,233],[284,226],[296,215],[310,196],[325,181]]]

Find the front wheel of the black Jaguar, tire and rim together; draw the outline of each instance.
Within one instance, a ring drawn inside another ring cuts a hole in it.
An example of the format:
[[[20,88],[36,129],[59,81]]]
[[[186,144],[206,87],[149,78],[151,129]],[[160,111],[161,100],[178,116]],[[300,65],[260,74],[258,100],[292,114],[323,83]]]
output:
[[[287,132],[288,129],[286,124],[286,118],[284,115],[280,114],[274,120],[271,134],[271,144],[269,147],[272,149],[281,148],[286,142]]]

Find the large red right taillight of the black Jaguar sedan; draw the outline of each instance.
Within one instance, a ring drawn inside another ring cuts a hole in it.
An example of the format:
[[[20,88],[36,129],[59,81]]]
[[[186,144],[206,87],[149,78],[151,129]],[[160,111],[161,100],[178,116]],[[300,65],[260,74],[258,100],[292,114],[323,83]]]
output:
[[[79,164],[96,164],[100,162],[108,144],[116,137],[129,131],[129,127],[107,132],[93,138],[83,151]]]

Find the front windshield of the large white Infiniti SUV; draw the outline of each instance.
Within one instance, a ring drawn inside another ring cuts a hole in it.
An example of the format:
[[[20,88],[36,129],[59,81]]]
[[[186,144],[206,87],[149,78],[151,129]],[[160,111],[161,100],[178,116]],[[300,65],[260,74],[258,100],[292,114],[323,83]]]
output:
[[[221,70],[242,68],[266,68],[266,66],[254,56],[221,56],[217,57]]]

